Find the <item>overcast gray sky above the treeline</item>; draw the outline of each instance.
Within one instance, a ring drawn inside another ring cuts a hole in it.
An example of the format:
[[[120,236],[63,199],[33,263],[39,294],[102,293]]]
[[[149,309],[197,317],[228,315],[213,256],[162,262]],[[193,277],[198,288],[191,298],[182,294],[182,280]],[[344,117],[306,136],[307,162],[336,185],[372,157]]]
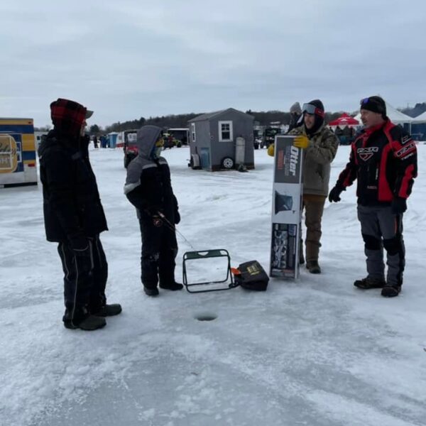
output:
[[[425,0],[1,0],[0,116],[50,124],[58,97],[90,124],[141,116],[354,111],[426,102]]]

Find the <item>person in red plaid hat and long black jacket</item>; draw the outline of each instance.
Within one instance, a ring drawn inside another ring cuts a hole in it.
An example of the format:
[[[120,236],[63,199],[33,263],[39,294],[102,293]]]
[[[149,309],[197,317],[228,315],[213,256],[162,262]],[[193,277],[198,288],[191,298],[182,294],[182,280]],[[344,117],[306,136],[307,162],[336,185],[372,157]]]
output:
[[[53,130],[40,143],[40,180],[48,241],[58,242],[64,272],[66,328],[94,330],[121,312],[107,305],[108,265],[99,234],[106,231],[96,178],[89,162],[86,119],[93,112],[77,102],[50,104]]]

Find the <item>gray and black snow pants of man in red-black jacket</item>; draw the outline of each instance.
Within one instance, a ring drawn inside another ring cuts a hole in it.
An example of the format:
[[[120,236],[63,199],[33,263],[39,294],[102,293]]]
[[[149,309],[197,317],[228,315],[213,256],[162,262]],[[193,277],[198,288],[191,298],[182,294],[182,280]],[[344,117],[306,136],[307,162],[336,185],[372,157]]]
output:
[[[403,240],[403,215],[393,214],[391,207],[358,205],[358,219],[364,239],[369,278],[385,278],[383,248],[386,250],[388,285],[403,285],[405,246]]]

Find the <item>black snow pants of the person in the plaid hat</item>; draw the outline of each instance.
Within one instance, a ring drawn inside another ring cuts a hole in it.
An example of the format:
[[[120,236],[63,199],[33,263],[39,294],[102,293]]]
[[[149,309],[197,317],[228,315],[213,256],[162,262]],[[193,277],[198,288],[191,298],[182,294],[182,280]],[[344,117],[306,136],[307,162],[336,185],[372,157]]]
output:
[[[64,271],[64,297],[67,312],[87,309],[97,312],[107,303],[105,286],[108,263],[99,235],[89,239],[89,256],[75,256],[70,244],[58,244],[58,253]],[[73,320],[74,315],[70,318]]]

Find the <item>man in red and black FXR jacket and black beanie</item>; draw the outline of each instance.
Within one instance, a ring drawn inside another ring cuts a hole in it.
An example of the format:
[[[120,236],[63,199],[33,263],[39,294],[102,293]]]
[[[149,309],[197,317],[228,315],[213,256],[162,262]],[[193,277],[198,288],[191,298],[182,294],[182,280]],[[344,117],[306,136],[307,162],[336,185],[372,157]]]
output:
[[[394,297],[403,285],[403,213],[417,176],[417,149],[411,136],[388,119],[381,97],[362,99],[360,109],[365,129],[352,143],[349,163],[330,191],[329,201],[339,202],[341,192],[358,180],[358,218],[368,275],[354,285],[364,290],[381,288],[382,296]]]

